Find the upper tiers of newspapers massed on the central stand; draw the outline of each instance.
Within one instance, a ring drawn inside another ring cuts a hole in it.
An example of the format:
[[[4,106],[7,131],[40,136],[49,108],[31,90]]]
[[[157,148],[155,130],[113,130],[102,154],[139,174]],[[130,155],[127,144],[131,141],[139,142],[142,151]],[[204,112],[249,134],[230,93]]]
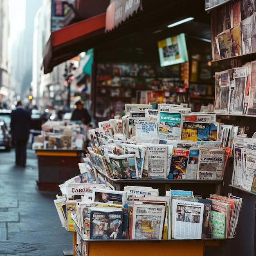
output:
[[[121,119],[99,122],[89,134],[84,161],[96,181],[221,180],[234,137],[246,136],[245,127],[218,123],[215,113],[191,112],[185,104],[125,105]]]

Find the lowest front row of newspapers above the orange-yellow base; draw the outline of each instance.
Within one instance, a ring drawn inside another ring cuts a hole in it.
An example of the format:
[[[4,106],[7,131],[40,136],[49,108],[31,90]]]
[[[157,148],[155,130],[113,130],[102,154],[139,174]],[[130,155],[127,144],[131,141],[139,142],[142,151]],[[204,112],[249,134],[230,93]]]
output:
[[[81,182],[81,180],[80,180]],[[62,226],[83,238],[76,245],[86,255],[88,239],[233,238],[242,198],[193,191],[125,186],[117,191],[103,184],[79,183],[74,177],[60,185],[54,203]]]

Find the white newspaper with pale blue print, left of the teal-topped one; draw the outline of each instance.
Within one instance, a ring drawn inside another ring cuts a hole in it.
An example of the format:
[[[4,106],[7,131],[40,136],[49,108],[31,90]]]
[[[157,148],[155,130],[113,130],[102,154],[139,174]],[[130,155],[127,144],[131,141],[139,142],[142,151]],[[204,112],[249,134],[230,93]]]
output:
[[[157,121],[150,120],[135,120],[134,121],[135,131],[132,135],[136,137],[158,137],[158,125]]]

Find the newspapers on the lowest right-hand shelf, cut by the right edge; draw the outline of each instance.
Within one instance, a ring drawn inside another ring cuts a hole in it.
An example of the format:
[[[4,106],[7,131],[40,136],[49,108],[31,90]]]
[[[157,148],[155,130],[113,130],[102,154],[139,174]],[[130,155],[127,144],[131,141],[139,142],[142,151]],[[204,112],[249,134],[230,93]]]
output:
[[[232,185],[256,193],[256,136],[234,138]]]

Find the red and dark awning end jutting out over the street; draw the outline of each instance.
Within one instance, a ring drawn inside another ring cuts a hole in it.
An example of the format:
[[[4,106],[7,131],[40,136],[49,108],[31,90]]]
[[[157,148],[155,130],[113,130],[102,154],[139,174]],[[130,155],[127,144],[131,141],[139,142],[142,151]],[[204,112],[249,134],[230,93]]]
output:
[[[82,20],[62,29],[53,31],[43,58],[44,73],[79,53],[93,48],[105,35],[106,13]]]

